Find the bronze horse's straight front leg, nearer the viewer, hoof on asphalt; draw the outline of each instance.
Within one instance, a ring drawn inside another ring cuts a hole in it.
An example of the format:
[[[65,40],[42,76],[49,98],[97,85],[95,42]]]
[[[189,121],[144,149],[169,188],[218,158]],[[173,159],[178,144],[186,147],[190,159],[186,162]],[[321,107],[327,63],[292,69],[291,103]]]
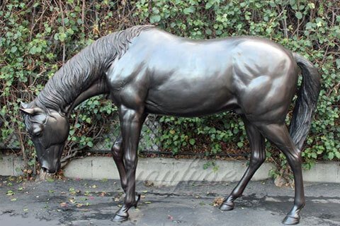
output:
[[[125,165],[126,189],[124,204],[120,210],[115,213],[114,220],[128,220],[128,210],[132,206],[137,206],[138,198],[136,198],[136,167],[137,167],[137,148],[140,139],[140,130],[147,115],[135,109],[129,109],[120,106],[120,129],[122,131],[123,141],[123,161]],[[137,196],[139,197],[139,196]]]

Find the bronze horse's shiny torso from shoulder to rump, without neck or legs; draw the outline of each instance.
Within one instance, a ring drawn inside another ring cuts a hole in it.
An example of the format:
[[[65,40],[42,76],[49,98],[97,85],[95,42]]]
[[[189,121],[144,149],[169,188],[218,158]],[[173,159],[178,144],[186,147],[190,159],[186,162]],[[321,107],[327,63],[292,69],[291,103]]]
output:
[[[108,75],[115,96],[134,90],[133,97],[118,102],[138,100],[152,113],[191,117],[244,112],[249,97],[259,103],[278,83],[296,80],[292,59],[283,47],[261,38],[190,40],[150,29],[132,40]],[[288,86],[280,89],[281,95],[296,88]]]

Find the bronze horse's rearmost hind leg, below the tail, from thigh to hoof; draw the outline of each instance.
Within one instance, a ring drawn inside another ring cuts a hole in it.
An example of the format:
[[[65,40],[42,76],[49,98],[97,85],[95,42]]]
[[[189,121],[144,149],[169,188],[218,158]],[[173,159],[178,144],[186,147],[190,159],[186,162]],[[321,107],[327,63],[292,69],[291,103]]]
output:
[[[295,182],[294,206],[283,220],[285,225],[296,225],[300,222],[300,211],[305,206],[303,190],[301,153],[290,137],[285,124],[256,124],[263,136],[275,144],[287,157],[290,168],[293,170]]]

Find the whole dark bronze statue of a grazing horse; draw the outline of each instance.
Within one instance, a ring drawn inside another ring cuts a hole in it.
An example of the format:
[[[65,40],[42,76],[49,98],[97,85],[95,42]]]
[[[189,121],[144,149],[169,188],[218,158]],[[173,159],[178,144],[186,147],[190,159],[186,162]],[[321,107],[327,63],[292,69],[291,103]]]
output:
[[[297,91],[299,67],[302,85],[288,132],[285,117]],[[251,158],[220,210],[234,208],[266,158],[267,138],[293,169],[295,201],[283,223],[294,225],[305,206],[301,149],[319,90],[319,74],[311,62],[270,40],[191,40],[140,25],[101,37],[69,59],[35,100],[22,103],[21,111],[42,169],[54,173],[60,169],[72,109],[94,95],[110,94],[121,131],[112,153],[125,191],[114,219],[123,221],[140,199],[135,192],[137,145],[147,114],[200,117],[233,110],[244,121]]]

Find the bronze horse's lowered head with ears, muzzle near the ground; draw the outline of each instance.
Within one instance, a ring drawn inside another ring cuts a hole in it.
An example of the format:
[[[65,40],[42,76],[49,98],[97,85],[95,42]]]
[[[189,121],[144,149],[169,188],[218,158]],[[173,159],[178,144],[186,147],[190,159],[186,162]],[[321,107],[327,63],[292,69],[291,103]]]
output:
[[[69,134],[67,117],[53,109],[48,112],[33,102],[21,103],[26,130],[37,151],[42,170],[55,173],[60,169],[60,158]]]

